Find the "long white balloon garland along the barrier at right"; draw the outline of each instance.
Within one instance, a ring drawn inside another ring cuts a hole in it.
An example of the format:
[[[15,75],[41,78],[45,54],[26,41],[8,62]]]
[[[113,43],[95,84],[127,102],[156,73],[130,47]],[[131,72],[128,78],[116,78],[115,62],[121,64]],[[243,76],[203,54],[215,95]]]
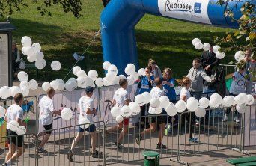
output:
[[[134,102],[130,102],[129,105],[124,105],[122,108],[115,106],[111,109],[111,114],[116,118],[118,123],[122,122],[125,118],[137,115],[140,113],[140,107],[145,104],[150,104],[151,114],[161,114],[162,109],[165,109],[166,113],[173,117],[177,113],[182,113],[186,109],[190,112],[195,112],[196,117],[204,117],[206,114],[205,109],[222,107],[231,107],[237,105],[237,111],[244,113],[247,105],[254,103],[254,97],[252,95],[246,95],[240,93],[236,97],[225,96],[222,99],[218,93],[214,93],[210,96],[210,100],[206,97],[202,97],[199,101],[195,97],[189,97],[187,101],[179,100],[175,105],[170,102],[167,96],[161,96],[159,99],[152,98],[150,93],[144,92],[135,96]],[[153,110],[153,112],[152,112]]]

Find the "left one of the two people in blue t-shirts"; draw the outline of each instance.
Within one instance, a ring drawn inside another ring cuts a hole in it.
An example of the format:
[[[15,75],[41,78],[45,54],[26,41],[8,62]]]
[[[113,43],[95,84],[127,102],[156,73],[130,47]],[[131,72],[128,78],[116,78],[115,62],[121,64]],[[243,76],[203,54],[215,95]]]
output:
[[[150,76],[150,67],[145,67],[145,75],[140,76],[139,82],[138,82],[138,93],[142,94],[144,92],[150,93],[150,90],[152,89],[153,84],[153,76]],[[149,108],[149,104],[141,106],[141,116],[146,115],[147,108]],[[147,118],[141,117],[141,128],[144,128],[147,126]]]

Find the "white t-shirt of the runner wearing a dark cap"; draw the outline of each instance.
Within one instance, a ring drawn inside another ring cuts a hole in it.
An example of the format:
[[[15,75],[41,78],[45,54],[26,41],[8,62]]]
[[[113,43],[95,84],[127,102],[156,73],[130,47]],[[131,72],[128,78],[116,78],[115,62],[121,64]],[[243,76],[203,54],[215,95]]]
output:
[[[80,111],[80,116],[87,117],[87,119],[90,121],[90,123],[94,123],[94,120],[93,120],[94,115],[85,113],[87,109],[90,109],[91,111],[93,110],[94,100],[88,96],[82,96],[79,99],[78,107],[79,107],[79,111]],[[79,119],[80,119],[80,116],[79,116]]]

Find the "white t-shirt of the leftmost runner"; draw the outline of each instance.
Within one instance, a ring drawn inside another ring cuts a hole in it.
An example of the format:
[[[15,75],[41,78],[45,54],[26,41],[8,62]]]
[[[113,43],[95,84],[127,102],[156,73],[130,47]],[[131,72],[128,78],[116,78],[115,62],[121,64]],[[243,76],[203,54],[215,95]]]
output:
[[[17,119],[23,120],[23,110],[17,104],[10,105],[10,107],[7,109],[5,117],[7,117],[7,120],[8,120],[7,124],[13,120],[15,120],[15,121]]]

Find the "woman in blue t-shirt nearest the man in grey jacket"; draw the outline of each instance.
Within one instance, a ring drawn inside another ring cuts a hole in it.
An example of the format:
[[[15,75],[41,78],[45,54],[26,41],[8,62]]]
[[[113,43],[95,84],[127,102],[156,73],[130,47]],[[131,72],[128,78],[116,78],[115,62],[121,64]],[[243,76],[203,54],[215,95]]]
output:
[[[168,99],[172,103],[176,103],[176,92],[174,90],[175,79],[172,77],[171,68],[165,68],[162,73],[162,87],[165,93],[165,96],[168,96]],[[165,135],[168,135],[168,132],[171,131],[171,122],[174,121],[174,117],[168,117],[168,126],[165,129]]]

